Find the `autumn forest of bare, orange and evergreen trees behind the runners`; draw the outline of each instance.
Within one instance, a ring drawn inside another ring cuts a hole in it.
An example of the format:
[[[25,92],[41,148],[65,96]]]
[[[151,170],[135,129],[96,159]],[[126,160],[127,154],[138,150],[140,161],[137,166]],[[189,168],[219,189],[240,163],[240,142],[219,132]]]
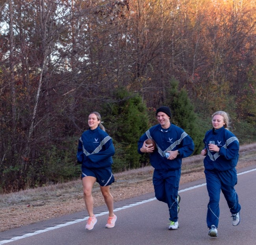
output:
[[[92,111],[113,171],[148,165],[139,137],[170,106],[198,154],[224,110],[256,141],[255,0],[0,0],[0,192],[78,178]]]

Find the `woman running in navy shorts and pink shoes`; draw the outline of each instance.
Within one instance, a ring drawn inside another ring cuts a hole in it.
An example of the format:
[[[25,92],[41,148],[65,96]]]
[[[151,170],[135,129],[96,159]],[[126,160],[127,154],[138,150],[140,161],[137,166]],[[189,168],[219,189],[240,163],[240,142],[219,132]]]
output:
[[[117,216],[113,212],[113,196],[110,193],[110,185],[115,181],[112,174],[112,156],[115,148],[111,137],[105,132],[100,123],[101,117],[98,112],[92,112],[88,118],[90,129],[83,132],[77,150],[77,160],[82,163],[82,183],[85,206],[89,213],[89,219],[85,229],[91,230],[97,222],[93,214],[92,188],[97,181],[109,210],[106,228],[115,226]]]

